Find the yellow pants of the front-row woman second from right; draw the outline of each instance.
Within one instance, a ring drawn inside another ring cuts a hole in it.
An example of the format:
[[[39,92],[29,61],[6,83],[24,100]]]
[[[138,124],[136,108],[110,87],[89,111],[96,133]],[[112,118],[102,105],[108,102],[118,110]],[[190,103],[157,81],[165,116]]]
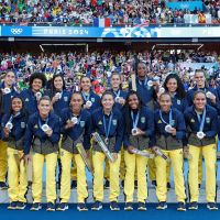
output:
[[[162,152],[167,155],[172,161],[172,166],[174,169],[174,184],[175,184],[175,193],[177,196],[177,201],[185,202],[186,194],[185,194],[185,185],[184,185],[184,158],[183,158],[183,148],[173,150],[173,151],[164,151]],[[158,201],[166,201],[167,198],[167,162],[161,156],[155,157],[156,164],[156,196]],[[198,164],[198,163],[197,163]]]

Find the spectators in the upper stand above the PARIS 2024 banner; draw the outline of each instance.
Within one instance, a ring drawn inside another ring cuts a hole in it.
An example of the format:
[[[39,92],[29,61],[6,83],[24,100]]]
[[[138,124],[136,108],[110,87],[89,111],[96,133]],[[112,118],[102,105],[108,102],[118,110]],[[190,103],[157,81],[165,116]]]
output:
[[[110,18],[111,25],[138,25],[142,23],[185,23],[186,14],[197,14],[198,23],[206,23],[206,14],[212,22],[220,20],[220,2],[205,0],[205,11],[195,9],[172,10],[166,0],[1,0],[1,23],[23,25],[52,23],[92,25],[95,18]]]

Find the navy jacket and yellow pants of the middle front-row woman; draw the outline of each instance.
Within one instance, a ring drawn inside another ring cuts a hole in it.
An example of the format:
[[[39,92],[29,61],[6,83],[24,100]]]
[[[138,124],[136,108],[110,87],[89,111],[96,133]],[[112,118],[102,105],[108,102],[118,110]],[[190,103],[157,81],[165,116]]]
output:
[[[103,108],[94,111],[91,116],[92,132],[98,132],[106,141],[106,145],[111,153],[118,153],[114,163],[109,162],[110,166],[110,201],[117,201],[120,193],[119,175],[120,175],[120,150],[123,139],[123,118],[122,113],[117,109],[112,109],[110,116],[103,113]],[[92,145],[92,164],[94,164],[94,197],[95,200],[101,202],[103,200],[103,162],[106,155],[97,142]],[[100,204],[95,206],[95,210],[99,210]]]

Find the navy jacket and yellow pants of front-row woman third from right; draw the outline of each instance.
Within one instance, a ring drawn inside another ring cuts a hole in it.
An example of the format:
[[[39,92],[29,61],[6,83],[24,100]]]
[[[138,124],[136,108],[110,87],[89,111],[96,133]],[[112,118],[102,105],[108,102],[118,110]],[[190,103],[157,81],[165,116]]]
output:
[[[147,198],[147,183],[146,183],[146,166],[147,158],[144,156],[131,154],[128,146],[133,146],[140,151],[148,152],[151,147],[151,139],[154,134],[154,113],[146,107],[140,110],[129,110],[125,114],[125,133],[124,133],[124,161],[125,161],[125,210],[133,209],[133,194],[134,194],[134,174],[138,174],[138,201],[140,205],[145,204]],[[128,116],[127,116],[128,114]],[[128,118],[130,120],[128,120]],[[141,129],[144,131],[143,135],[132,135],[132,129]],[[129,205],[130,204],[130,205]],[[141,207],[140,207],[141,208]],[[144,209],[144,206],[142,206]]]

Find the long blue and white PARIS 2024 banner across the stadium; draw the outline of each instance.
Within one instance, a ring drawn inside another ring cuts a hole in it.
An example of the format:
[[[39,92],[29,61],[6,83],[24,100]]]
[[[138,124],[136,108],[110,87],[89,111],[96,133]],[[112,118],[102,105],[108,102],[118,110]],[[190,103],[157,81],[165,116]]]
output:
[[[160,38],[160,37],[220,37],[220,26],[1,26],[6,37],[85,37],[85,38]]]

